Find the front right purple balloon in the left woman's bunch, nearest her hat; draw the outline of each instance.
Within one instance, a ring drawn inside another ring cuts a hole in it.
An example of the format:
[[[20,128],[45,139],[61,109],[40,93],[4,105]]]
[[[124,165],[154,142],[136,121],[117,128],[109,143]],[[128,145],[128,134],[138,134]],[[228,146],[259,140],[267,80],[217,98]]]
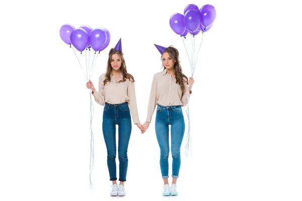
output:
[[[106,32],[103,29],[96,28],[90,32],[90,45],[94,51],[100,51],[106,42]]]

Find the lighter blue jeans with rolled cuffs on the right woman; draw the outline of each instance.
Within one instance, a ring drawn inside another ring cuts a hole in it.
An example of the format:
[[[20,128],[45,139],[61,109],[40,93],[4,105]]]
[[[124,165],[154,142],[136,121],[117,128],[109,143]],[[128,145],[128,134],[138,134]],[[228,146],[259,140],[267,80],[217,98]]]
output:
[[[172,177],[178,178],[180,147],[185,133],[185,120],[181,106],[157,106],[155,132],[161,149],[162,178],[169,177],[169,125],[171,125]]]

